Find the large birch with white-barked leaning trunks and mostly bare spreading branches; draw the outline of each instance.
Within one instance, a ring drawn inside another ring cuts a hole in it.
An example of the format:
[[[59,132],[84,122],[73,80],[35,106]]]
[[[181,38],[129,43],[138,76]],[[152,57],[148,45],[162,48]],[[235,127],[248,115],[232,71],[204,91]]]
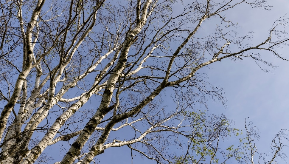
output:
[[[59,142],[67,146],[60,164],[88,164],[120,146],[156,163],[248,160],[242,146],[218,149],[239,134],[226,116],[195,109],[212,97],[226,102],[203,67],[250,58],[266,71],[274,66],[264,53],[287,60],[278,49],[288,44],[288,19],[250,43],[225,17],[239,5],[271,8],[265,0],[1,1],[0,163],[39,162]],[[218,24],[203,33],[204,21]],[[166,90],[176,108],[160,105]]]

